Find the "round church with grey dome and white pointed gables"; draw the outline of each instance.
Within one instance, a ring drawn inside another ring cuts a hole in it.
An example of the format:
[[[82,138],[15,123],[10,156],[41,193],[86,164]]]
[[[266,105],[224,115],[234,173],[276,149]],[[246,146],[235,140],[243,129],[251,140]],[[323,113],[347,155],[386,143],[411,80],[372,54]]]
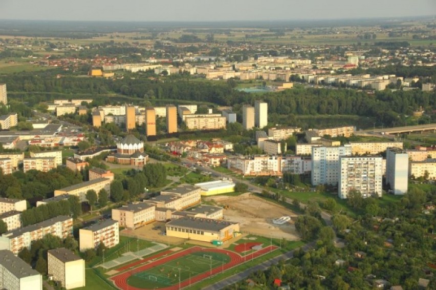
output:
[[[144,142],[134,135],[127,135],[117,143],[117,153],[112,153],[106,158],[107,162],[143,166],[148,159],[144,153]]]

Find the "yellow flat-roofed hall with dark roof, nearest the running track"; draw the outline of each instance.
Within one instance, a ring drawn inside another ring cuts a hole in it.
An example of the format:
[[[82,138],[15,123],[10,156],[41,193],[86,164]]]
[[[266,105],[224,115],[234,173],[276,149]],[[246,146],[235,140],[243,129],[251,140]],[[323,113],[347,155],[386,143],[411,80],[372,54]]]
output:
[[[183,217],[166,223],[166,235],[211,242],[227,241],[239,232],[239,223],[216,219]]]

